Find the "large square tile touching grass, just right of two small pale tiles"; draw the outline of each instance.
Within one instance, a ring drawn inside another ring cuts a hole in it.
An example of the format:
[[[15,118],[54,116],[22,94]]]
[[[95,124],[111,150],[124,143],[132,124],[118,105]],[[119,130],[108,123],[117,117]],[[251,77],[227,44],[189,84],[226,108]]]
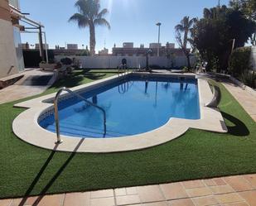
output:
[[[138,195],[142,203],[159,202],[165,200],[158,185],[138,187]]]

